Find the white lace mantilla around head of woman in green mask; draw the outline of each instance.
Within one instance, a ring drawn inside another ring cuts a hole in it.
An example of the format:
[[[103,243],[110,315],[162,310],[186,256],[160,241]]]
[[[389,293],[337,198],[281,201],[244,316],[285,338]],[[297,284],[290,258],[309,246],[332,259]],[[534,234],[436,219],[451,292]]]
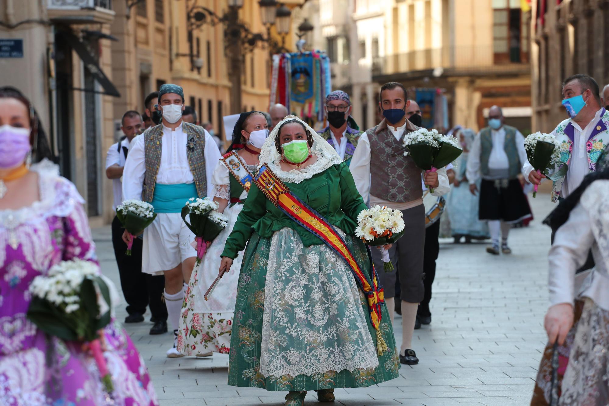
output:
[[[305,129],[311,133],[313,137],[313,146],[311,147],[311,152],[315,154],[315,157],[317,157],[317,162],[312,163],[311,165],[302,169],[283,171],[280,165],[281,154],[275,148],[275,138],[279,137],[278,132],[281,124],[283,124],[285,121],[294,119],[303,124]],[[286,116],[286,118],[275,126],[273,131],[270,133],[269,138],[264,141],[264,145],[260,151],[259,160],[260,163],[266,163],[269,166],[269,169],[273,171],[273,173],[276,174],[279,179],[283,180],[283,182],[289,183],[300,183],[305,179],[311,179],[311,177],[325,171],[330,166],[343,162],[339,154],[336,153],[336,149],[328,144],[328,141],[324,140],[319,134],[317,134],[317,132],[315,132],[314,129],[312,129],[300,118],[292,115]]]

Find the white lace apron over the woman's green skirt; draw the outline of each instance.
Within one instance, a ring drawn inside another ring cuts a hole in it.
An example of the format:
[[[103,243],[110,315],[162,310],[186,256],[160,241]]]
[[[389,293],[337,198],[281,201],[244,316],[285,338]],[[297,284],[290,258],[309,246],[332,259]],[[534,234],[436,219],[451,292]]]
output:
[[[338,255],[325,244],[305,247],[288,227],[273,234],[269,252],[262,375],[376,368],[359,289]]]

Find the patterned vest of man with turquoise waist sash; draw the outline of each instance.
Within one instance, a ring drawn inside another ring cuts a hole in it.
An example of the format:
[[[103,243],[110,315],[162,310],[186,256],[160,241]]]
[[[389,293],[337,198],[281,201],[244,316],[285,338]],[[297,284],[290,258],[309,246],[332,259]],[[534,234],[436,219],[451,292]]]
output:
[[[203,127],[182,122],[182,130],[186,133],[186,156],[190,166],[199,198],[207,195],[207,180],[205,177],[205,130]],[[151,127],[141,135],[144,137],[144,152],[146,154],[146,173],[142,199],[152,202],[154,187],[157,183],[158,168],[161,165],[161,151],[163,148],[163,124]]]

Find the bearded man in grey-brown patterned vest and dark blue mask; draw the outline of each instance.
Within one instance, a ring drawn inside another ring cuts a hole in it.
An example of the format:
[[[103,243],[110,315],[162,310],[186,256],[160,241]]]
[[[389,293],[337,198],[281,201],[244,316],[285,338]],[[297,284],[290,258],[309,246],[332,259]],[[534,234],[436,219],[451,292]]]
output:
[[[384,120],[367,130],[357,141],[349,168],[364,201],[370,205],[382,205],[401,210],[406,232],[389,249],[389,257],[396,271],[383,272],[381,251],[372,249],[372,260],[379,270],[379,279],[384,287],[387,310],[393,322],[395,308],[395,280],[400,274],[402,309],[402,344],[400,362],[407,365],[418,363],[412,350],[412,334],[417,319],[418,304],[423,300],[423,252],[425,243],[425,208],[421,189],[421,169],[417,168],[410,155],[404,156],[402,144],[404,134],[419,127],[406,119],[410,101],[404,86],[397,82],[382,85],[379,106]],[[426,185],[433,187],[434,196],[442,196],[450,190],[446,169],[424,176]]]

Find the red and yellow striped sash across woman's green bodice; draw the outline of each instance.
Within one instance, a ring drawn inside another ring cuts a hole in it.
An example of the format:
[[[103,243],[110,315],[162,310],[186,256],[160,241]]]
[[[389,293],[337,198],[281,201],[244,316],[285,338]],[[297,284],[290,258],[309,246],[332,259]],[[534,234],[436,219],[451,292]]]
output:
[[[380,330],[384,293],[383,288],[379,287],[374,266],[370,264],[372,266],[370,280],[367,274],[357,265],[357,261],[347,247],[345,240],[336,232],[334,227],[319,213],[306,205],[305,202],[290,193],[289,188],[270,171],[266,164],[262,164],[258,170],[258,174],[254,177],[254,183],[269,198],[273,205],[280,208],[292,220],[305,227],[309,232],[321,238],[330,249],[336,252],[347,263],[353,272],[357,285],[367,296],[370,320],[372,326],[376,329],[376,351],[379,356],[382,355],[383,351],[387,350],[387,345],[382,338]]]

